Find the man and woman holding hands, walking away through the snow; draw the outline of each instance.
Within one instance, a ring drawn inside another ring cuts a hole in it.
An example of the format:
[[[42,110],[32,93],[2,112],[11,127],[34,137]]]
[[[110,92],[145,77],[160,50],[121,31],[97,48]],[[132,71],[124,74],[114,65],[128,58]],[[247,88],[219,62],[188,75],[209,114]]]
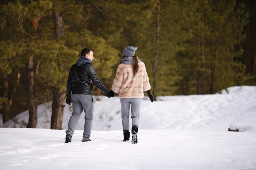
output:
[[[124,131],[124,140],[130,140],[130,109],[132,118],[132,144],[137,144],[137,133],[139,128],[139,115],[141,99],[144,91],[148,94],[150,101],[154,98],[150,94],[150,83],[146,66],[135,55],[136,46],[127,46],[123,51],[123,57],[117,68],[115,79],[111,91],[106,88],[98,78],[92,60],[94,59],[91,49],[83,49],[81,57],[72,65],[67,79],[67,104],[72,103],[72,116],[68,122],[65,143],[71,142],[76,124],[83,110],[85,113],[85,123],[83,131],[83,141],[90,141],[92,119],[93,119],[93,98],[91,82],[107,97],[114,97],[119,94],[121,102],[121,117]]]

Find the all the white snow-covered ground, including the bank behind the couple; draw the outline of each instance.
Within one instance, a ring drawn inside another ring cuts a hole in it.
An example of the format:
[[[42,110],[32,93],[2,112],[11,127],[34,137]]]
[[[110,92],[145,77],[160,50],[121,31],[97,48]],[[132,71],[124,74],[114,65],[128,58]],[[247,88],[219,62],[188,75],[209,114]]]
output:
[[[228,91],[153,103],[145,96],[135,145],[122,141],[119,97],[94,97],[90,142],[81,142],[83,114],[65,144],[72,107],[63,130],[51,130],[51,106],[40,105],[36,129],[20,128],[28,111],[1,126],[0,170],[256,170],[256,86]]]

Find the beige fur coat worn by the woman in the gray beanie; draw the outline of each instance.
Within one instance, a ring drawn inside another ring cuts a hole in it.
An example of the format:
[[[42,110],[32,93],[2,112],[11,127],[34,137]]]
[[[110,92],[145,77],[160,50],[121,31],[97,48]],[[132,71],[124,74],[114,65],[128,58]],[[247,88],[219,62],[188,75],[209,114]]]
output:
[[[119,93],[119,98],[142,98],[144,91],[150,90],[148,73],[144,62],[139,62],[139,71],[133,75],[132,64],[119,64],[112,84],[112,91]]]

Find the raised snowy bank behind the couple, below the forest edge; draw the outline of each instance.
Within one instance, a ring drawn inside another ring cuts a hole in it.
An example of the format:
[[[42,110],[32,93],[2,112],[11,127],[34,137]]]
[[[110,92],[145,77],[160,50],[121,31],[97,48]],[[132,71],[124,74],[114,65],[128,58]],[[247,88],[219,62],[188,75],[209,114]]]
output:
[[[158,97],[153,103],[144,97],[141,105],[140,129],[209,129],[227,130],[230,124],[256,126],[256,86],[228,88],[215,95]],[[38,106],[37,128],[50,128],[51,103]],[[65,104],[63,129],[67,129],[72,106]],[[1,127],[26,127],[28,110]],[[76,127],[83,130],[83,114]],[[217,126],[218,125],[218,126]],[[119,97],[94,97],[92,130],[122,130]]]

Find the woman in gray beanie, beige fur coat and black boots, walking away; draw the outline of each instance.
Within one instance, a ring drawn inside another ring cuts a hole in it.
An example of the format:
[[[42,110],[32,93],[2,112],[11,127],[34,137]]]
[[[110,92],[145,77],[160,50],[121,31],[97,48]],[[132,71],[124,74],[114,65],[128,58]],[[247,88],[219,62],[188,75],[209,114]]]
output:
[[[137,144],[139,128],[139,112],[144,91],[147,92],[150,101],[154,98],[150,94],[150,84],[144,62],[135,55],[136,46],[127,46],[123,51],[123,58],[117,68],[117,73],[112,84],[112,93],[119,93],[121,102],[122,125],[124,140],[130,139],[129,113],[131,108],[132,118],[132,144]]]

